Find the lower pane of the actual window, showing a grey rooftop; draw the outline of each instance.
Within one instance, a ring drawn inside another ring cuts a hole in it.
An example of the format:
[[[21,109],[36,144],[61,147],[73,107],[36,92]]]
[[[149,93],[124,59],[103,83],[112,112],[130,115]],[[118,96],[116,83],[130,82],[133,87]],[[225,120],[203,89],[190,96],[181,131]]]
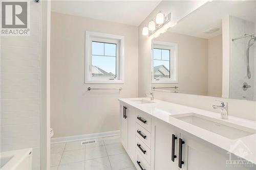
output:
[[[92,76],[116,78],[116,57],[92,56]]]

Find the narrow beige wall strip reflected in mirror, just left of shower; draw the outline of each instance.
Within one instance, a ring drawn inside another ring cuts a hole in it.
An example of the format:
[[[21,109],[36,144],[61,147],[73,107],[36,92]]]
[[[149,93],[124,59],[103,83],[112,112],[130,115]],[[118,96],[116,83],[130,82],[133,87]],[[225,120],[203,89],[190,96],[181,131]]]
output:
[[[222,35],[208,39],[208,95],[222,94]]]

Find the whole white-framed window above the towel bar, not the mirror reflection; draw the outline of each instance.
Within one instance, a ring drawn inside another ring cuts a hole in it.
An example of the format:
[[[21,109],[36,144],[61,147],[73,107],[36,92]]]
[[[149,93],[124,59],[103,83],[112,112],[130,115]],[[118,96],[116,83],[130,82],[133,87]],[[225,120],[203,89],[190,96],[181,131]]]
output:
[[[86,83],[123,83],[123,37],[86,32]]]

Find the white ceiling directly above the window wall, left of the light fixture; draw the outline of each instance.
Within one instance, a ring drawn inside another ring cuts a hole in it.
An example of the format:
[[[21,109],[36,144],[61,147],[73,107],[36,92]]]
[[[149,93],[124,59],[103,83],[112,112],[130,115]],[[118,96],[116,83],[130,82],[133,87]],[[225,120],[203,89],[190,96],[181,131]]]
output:
[[[52,11],[139,26],[157,7],[156,1],[52,1]]]

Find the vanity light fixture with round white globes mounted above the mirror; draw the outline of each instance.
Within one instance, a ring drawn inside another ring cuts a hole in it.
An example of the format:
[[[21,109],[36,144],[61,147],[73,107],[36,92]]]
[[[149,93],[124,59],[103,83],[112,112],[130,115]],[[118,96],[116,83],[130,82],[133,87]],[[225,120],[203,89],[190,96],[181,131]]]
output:
[[[164,13],[160,11],[156,16],[156,21],[152,19],[150,22],[148,22],[148,27],[145,26],[142,29],[142,35],[151,36],[155,34],[158,36],[159,34],[167,31],[167,29],[170,27],[170,13],[168,13],[168,15],[164,15]]]

